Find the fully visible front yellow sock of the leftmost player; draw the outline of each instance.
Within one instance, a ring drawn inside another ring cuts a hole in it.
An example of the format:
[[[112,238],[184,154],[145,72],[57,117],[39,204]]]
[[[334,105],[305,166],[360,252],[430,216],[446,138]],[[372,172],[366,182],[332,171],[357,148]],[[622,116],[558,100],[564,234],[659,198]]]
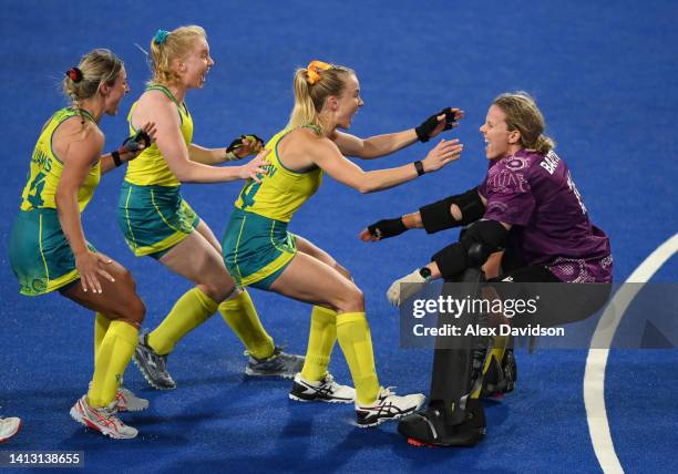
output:
[[[111,321],[94,363],[94,377],[88,392],[92,406],[109,406],[132,359],[138,329],[124,321]]]

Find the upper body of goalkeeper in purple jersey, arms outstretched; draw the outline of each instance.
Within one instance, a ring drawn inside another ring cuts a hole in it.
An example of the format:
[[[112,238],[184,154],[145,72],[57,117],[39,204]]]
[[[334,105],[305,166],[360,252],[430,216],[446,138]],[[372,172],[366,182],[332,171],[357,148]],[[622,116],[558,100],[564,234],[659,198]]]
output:
[[[410,228],[432,234],[469,226],[459,243],[393,282],[388,292],[392,303],[400,306],[428,281],[462,272],[473,244],[482,246],[484,259],[504,249],[502,276],[513,281],[612,282],[609,240],[590,223],[565,162],[543,131],[544,118],[531,96],[500,95],[480,127],[490,161],[480,186],[361,233],[362,240],[377,241]],[[407,286],[409,295],[400,293],[401,282],[414,284]]]

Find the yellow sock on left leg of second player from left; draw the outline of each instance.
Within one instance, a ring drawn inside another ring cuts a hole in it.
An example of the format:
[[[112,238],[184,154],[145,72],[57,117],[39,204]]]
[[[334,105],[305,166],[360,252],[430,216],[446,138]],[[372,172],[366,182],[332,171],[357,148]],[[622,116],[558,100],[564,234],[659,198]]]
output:
[[[184,336],[205,322],[216,312],[217,303],[199,288],[186,291],[148,334],[148,346],[158,354],[167,354]]]

